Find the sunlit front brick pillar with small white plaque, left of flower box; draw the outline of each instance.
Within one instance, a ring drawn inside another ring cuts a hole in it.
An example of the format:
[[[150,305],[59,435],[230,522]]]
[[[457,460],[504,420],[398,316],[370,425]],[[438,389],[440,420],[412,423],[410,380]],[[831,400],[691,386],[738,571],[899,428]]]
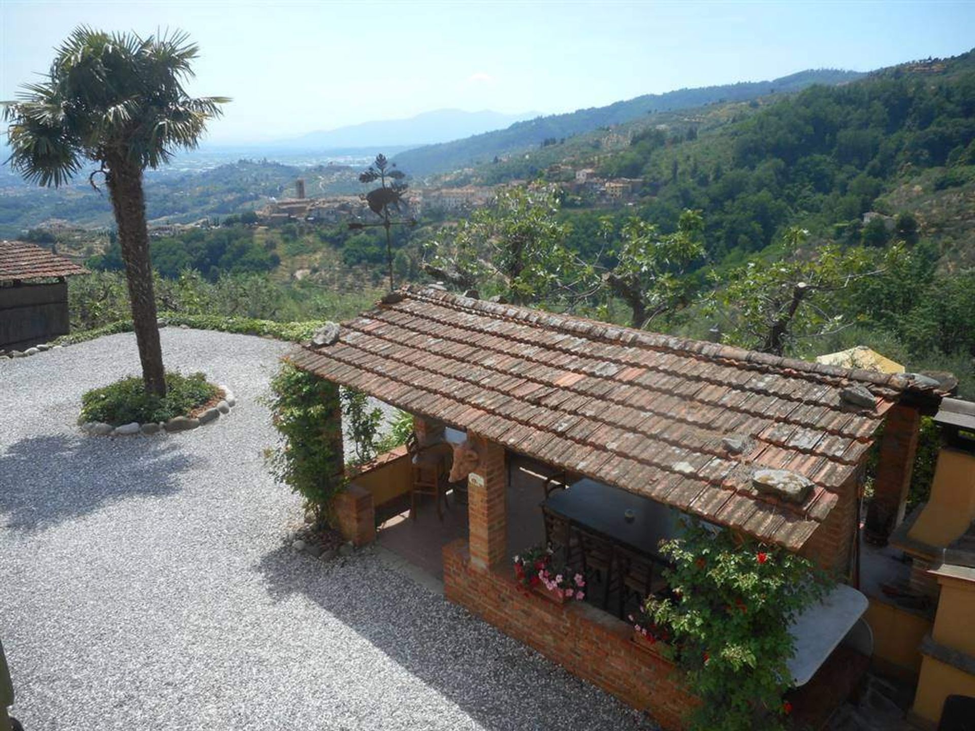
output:
[[[505,451],[497,442],[470,433],[467,438],[481,455],[477,469],[467,478],[471,564],[487,568],[508,558]]]

